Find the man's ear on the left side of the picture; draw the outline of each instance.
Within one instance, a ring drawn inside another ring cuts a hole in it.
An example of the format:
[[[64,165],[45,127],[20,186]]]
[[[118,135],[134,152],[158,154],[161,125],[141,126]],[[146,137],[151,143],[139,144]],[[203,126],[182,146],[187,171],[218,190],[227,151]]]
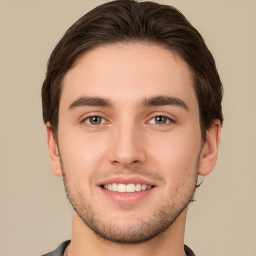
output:
[[[46,139],[47,139],[47,147],[50,155],[50,169],[53,174],[61,177],[61,165],[58,155],[58,146],[53,137],[51,125],[49,122],[46,123]]]

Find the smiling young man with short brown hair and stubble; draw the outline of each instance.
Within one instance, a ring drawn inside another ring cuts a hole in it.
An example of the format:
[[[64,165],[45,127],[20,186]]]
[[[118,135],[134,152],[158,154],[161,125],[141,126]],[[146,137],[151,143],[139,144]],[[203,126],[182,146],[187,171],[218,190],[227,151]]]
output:
[[[74,209],[71,241],[45,255],[194,255],[187,205],[216,162],[221,98],[175,8],[116,0],[77,20],[42,86],[51,170]]]

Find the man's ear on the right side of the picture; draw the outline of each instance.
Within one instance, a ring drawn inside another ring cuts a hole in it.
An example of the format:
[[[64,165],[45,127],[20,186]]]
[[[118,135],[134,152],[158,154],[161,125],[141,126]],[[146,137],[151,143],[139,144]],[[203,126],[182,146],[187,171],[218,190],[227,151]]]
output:
[[[202,147],[198,174],[205,176],[211,172],[217,161],[218,145],[220,141],[220,121],[214,119],[206,132],[206,141]]]

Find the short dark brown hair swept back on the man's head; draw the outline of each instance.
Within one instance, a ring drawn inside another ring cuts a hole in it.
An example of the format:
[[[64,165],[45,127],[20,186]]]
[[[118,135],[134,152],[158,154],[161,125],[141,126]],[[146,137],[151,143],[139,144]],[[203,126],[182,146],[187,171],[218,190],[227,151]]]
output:
[[[50,122],[55,138],[66,72],[89,49],[126,42],[156,44],[179,54],[192,71],[202,139],[205,140],[213,119],[219,119],[222,124],[222,84],[214,58],[200,33],[172,6],[115,0],[95,7],[78,19],[50,55],[41,90],[42,113],[44,123]]]

